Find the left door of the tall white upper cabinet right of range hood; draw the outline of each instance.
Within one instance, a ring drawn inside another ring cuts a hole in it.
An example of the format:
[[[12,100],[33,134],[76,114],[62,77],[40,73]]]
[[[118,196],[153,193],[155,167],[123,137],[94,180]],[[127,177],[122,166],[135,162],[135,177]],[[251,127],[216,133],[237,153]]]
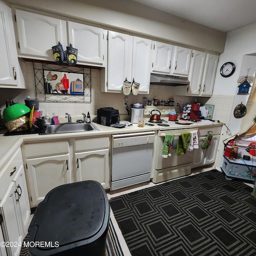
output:
[[[187,95],[199,95],[202,89],[201,81],[204,72],[206,53],[194,50],[190,62]]]

